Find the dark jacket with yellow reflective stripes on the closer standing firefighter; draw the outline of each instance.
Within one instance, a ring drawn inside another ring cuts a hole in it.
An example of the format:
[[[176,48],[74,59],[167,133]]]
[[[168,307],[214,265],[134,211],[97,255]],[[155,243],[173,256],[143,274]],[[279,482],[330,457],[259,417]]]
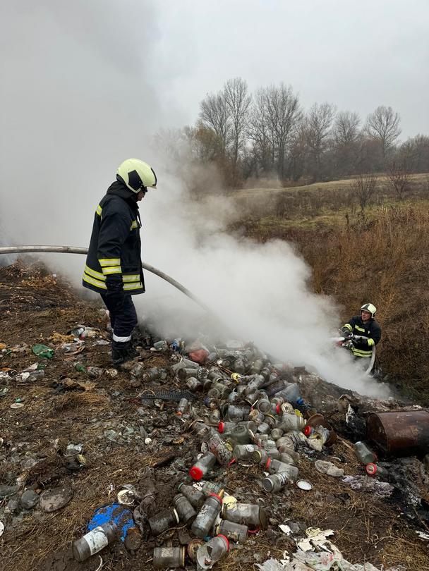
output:
[[[95,209],[83,285],[98,293],[145,291],[140,216],[133,192],[115,181]]]

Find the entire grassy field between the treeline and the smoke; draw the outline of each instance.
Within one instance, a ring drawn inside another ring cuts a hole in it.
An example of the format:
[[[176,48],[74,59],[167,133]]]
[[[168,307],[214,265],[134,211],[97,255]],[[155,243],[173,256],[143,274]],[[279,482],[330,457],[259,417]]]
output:
[[[258,241],[294,242],[313,270],[313,290],[332,295],[342,319],[365,301],[375,303],[385,373],[406,395],[428,404],[429,175],[413,176],[403,201],[380,180],[364,215],[351,180],[240,190],[239,226]],[[286,197],[286,207],[272,197]]]

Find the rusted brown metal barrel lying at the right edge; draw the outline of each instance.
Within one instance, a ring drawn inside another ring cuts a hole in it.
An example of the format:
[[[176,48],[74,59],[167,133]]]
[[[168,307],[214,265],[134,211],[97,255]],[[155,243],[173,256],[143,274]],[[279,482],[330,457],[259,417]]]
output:
[[[366,436],[385,454],[409,456],[429,452],[429,411],[373,412]]]

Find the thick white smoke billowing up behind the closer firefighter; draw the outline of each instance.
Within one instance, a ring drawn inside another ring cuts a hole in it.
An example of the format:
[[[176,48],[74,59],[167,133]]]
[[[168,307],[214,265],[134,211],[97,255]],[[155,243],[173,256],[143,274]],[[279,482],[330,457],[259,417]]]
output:
[[[385,395],[356,372],[345,352],[332,355],[329,338],[339,326],[334,302],[310,293],[310,270],[293,247],[227,234],[232,203],[220,197],[190,201],[164,158],[150,149],[150,133],[162,125],[162,94],[147,80],[154,77],[157,30],[150,4],[33,6],[18,1],[1,8],[8,23],[0,39],[7,78],[0,152],[6,235],[16,244],[87,246],[95,207],[116,166],[129,156],[152,161],[159,190],[141,203],[145,262],[198,295],[229,336],[313,367],[340,386]],[[17,27],[23,42],[16,39]],[[83,257],[46,259],[80,287]],[[190,324],[195,333],[198,325],[205,329],[207,318],[197,306],[159,278],[146,277],[147,293],[136,302],[159,331],[191,334]]]

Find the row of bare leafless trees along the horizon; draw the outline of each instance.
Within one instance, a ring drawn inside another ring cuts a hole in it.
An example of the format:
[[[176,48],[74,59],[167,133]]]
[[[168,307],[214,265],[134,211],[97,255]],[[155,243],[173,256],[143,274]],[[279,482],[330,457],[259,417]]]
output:
[[[248,92],[245,80],[228,80],[200,103],[194,126],[174,133],[188,142],[196,164],[212,165],[223,183],[239,187],[248,178],[278,178],[284,185],[387,171],[429,172],[429,137],[399,142],[401,118],[378,106],[362,121],[331,103],[303,109],[291,86]],[[168,136],[167,136],[168,135]],[[159,143],[173,152],[169,132]]]

